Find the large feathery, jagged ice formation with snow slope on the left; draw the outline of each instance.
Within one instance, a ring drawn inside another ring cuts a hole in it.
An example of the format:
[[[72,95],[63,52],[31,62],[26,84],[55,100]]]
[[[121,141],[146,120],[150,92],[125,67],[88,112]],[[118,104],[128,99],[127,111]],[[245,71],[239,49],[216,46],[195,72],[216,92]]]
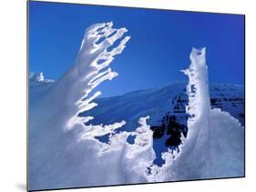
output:
[[[75,65],[64,76],[46,84],[43,92],[35,91],[41,89],[37,84],[30,84],[30,190],[147,181],[146,168],[155,158],[148,116],[139,118],[140,126],[131,133],[116,133],[125,121],[91,125],[93,116],[79,116],[97,106],[93,100],[100,92],[93,93],[94,88],[118,75],[108,66],[126,47],[126,32],[126,28],[113,28],[112,23],[90,26]],[[118,46],[108,50],[120,38]],[[40,73],[29,77],[31,82],[46,83]],[[108,143],[96,139],[107,134]],[[134,144],[127,142],[130,135],[135,136]],[[133,176],[135,172],[140,175]]]

